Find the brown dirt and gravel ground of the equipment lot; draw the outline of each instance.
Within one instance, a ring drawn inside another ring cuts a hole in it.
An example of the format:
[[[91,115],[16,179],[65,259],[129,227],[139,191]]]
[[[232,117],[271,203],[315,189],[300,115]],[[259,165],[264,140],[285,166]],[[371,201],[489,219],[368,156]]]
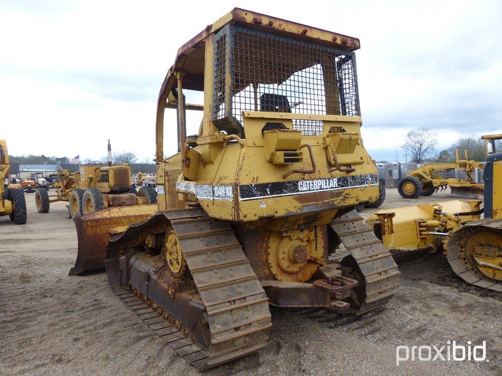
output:
[[[39,214],[34,194],[26,200],[27,225],[0,217],[0,374],[197,374],[110,293],[104,273],[68,276],[77,236],[65,203]],[[451,200],[448,192],[403,200],[388,189],[383,208],[444,200]],[[266,348],[205,374],[501,376],[502,294],[467,286],[441,255],[400,270],[399,293],[386,308],[362,317],[272,308]],[[448,340],[486,341],[487,360],[396,365],[398,345],[440,347]]]

